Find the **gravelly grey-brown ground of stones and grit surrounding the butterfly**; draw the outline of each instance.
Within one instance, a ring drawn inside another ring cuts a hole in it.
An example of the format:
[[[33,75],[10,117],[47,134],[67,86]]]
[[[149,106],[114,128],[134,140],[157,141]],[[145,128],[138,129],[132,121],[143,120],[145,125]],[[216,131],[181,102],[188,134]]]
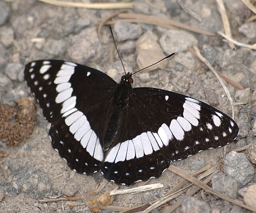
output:
[[[152,2],[161,9],[152,8],[146,1],[135,0],[134,8],[129,12],[170,18],[212,33],[223,32],[222,20],[214,0],[184,1],[185,6],[202,18],[201,22],[184,12],[176,0]],[[250,10],[238,0],[224,2],[234,39],[246,44],[255,43],[256,22],[245,22],[252,15]],[[24,65],[32,60],[60,59],[86,64],[105,72],[118,82],[123,70],[116,55],[114,62],[111,62],[110,50],[113,42],[108,28],[104,27],[102,30],[104,44],[97,35],[97,24],[114,12],[117,10],[64,8],[36,0],[0,1],[0,104],[15,106],[15,100],[32,97],[23,77]],[[118,21],[113,25],[113,31],[128,72],[176,52],[175,57],[158,64],[153,71],[135,75],[134,87],[149,86],[183,93],[231,115],[228,98],[214,74],[188,51],[187,46],[194,45],[216,70],[244,88],[239,90],[225,82],[235,102],[243,104],[234,107],[234,120],[239,125],[240,135],[236,142],[228,146],[228,150],[252,143],[254,146],[244,153],[231,151],[225,159],[222,147],[200,152],[172,164],[191,174],[205,165],[216,165],[218,161],[224,160],[223,169],[212,177],[212,187],[256,209],[256,52],[239,47],[231,50],[220,36],[167,30],[147,24]],[[241,113],[240,110],[244,109],[250,112]],[[0,157],[1,213],[90,212],[86,206],[70,207],[65,201],[39,203],[39,199],[80,195],[78,191],[93,191],[97,182],[104,181],[100,173],[87,176],[71,171],[52,149],[47,131],[48,123],[44,120],[42,111],[38,110],[36,127],[26,141],[16,147],[8,147],[5,142],[0,141],[0,151],[8,153],[7,157]],[[164,185],[163,188],[118,195],[112,205],[133,207],[148,203],[162,197],[180,181],[181,177],[165,171],[159,179],[149,182],[160,182]],[[102,191],[112,187],[113,183],[109,182]],[[181,197],[182,195],[177,199]],[[163,210],[154,210],[158,211]],[[249,211],[212,195],[197,193],[186,199],[176,212]]]

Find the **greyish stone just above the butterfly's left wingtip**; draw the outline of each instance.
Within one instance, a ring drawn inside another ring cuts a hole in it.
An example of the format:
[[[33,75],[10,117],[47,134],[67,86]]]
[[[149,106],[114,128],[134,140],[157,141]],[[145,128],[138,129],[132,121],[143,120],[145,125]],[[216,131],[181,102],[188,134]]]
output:
[[[44,44],[41,57],[42,58],[55,58],[61,56],[66,52],[66,44],[64,40],[48,39]]]

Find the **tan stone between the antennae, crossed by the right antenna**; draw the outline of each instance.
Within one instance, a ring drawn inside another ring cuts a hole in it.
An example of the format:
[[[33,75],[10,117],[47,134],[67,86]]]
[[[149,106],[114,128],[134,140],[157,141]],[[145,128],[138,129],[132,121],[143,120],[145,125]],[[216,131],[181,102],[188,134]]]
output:
[[[151,64],[154,64],[155,62],[165,57],[157,40],[158,40],[157,36],[153,34],[151,31],[148,31],[144,33],[136,41],[136,50],[138,52],[136,62],[139,69],[143,69]],[[154,66],[151,66],[146,70],[152,71],[159,68],[165,68],[167,64],[168,64],[168,60],[163,60],[162,62],[155,64]]]

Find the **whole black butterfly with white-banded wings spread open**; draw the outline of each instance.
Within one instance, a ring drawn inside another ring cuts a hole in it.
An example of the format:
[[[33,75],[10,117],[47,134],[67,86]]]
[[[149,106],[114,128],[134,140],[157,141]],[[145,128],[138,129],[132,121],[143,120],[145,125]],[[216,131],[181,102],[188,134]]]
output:
[[[25,80],[51,123],[52,146],[71,169],[101,171],[118,184],[160,177],[171,161],[236,139],[230,117],[194,98],[116,83],[93,68],[60,60],[25,67]]]

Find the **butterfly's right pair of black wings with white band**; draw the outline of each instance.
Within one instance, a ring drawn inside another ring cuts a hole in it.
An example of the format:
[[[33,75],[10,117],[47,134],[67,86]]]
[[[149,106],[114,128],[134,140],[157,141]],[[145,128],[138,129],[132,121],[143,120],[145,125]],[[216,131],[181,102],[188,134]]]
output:
[[[154,88],[134,88],[106,156],[106,179],[131,185],[160,177],[171,161],[236,139],[239,129],[228,115],[203,102]],[[125,130],[125,131],[124,131]]]

